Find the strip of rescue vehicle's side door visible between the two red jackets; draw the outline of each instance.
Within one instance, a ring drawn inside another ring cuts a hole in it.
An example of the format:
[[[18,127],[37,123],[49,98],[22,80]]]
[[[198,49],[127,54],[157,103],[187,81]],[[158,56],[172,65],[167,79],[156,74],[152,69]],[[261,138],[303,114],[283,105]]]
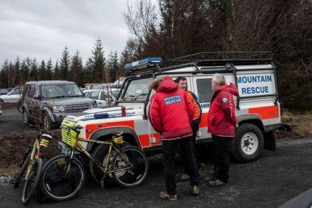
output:
[[[196,75],[192,77],[194,94],[198,98],[198,102],[201,105],[202,116],[201,123],[199,124],[198,137],[210,138],[208,134],[208,110],[210,107],[210,101],[214,94],[211,88],[212,75]]]

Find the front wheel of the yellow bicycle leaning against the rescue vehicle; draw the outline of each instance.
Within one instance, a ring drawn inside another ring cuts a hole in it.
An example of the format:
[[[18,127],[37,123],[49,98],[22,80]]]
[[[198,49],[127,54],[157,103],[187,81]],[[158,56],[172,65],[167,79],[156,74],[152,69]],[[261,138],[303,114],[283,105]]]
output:
[[[49,178],[49,174],[51,175],[53,174],[52,171],[55,171],[55,169],[53,170],[53,168],[59,167],[59,170],[63,171],[64,168],[68,165],[68,159],[68,155],[55,156],[54,158],[51,158],[49,161],[47,161],[47,163],[43,167],[39,185],[42,193],[45,194],[50,200],[61,202],[75,198],[84,186],[84,181],[86,180],[84,165],[82,165],[81,162],[75,157],[72,158],[72,160],[70,161],[70,171],[68,172],[67,177],[60,176],[58,178],[59,181],[56,182],[52,182],[51,178]],[[74,168],[75,166],[76,168]],[[75,173],[75,170],[77,170],[79,174]],[[61,174],[63,174],[63,172]],[[70,181],[71,179],[77,179],[78,183],[75,184],[78,184],[78,186],[75,186],[76,188],[73,188],[75,190],[70,190],[70,193],[64,193],[63,195],[63,193],[60,193],[57,188],[59,188],[58,186],[61,186],[61,184],[72,184],[73,181]],[[57,195],[58,193],[62,195]]]

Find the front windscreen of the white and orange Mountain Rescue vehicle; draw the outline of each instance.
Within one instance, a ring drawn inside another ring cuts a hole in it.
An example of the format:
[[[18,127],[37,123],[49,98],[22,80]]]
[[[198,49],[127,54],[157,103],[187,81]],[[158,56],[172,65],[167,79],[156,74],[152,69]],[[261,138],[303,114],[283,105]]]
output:
[[[146,100],[148,96],[148,83],[152,80],[152,77],[141,79],[141,80],[132,80],[127,87],[127,91],[123,95],[121,100],[123,101],[141,101]]]

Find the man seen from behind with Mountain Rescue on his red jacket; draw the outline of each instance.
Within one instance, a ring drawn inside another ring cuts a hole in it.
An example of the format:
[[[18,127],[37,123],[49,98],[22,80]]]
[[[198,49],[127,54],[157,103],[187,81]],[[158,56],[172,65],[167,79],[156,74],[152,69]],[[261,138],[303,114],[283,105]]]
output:
[[[194,117],[194,108],[184,90],[179,89],[171,77],[164,80],[153,80],[149,89],[157,90],[150,98],[148,117],[155,131],[162,135],[162,155],[166,192],[159,197],[166,200],[177,200],[176,168],[174,158],[180,145],[185,159],[187,172],[190,174],[192,194],[199,193],[198,168],[193,154],[193,132],[190,123]]]

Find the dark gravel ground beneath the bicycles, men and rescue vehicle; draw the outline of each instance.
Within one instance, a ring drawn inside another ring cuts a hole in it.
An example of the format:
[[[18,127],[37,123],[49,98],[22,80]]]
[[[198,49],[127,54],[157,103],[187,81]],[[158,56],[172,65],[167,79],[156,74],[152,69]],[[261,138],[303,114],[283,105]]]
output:
[[[160,156],[150,158],[150,174],[145,183],[135,188],[101,189],[88,177],[79,197],[52,204],[32,200],[31,207],[279,207],[296,195],[312,187],[312,138],[281,139],[277,151],[264,151],[253,163],[232,163],[231,180],[227,186],[212,188],[202,181],[200,195],[190,195],[188,182],[178,183],[178,201],[160,200],[164,191],[164,172]],[[207,158],[205,175],[212,163]],[[178,159],[178,172],[183,164]],[[22,187],[0,184],[1,207],[23,207]]]

